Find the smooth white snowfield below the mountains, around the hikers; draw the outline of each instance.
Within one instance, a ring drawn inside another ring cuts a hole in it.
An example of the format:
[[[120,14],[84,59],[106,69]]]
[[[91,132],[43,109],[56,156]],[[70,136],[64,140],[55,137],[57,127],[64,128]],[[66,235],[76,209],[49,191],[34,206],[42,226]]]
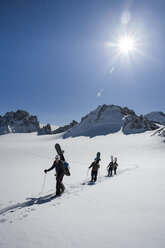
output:
[[[0,136],[0,247],[164,248],[165,143],[152,133]],[[54,171],[40,192],[55,143],[65,150],[71,176],[63,180],[67,191],[50,198]],[[98,151],[101,168],[90,185],[88,167]],[[111,155],[119,167],[108,178]]]

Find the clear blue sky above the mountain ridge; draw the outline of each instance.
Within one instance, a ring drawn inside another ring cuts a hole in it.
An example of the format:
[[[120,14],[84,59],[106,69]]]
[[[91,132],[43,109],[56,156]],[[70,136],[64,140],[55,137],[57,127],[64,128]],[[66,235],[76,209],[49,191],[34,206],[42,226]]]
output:
[[[0,0],[0,114],[63,125],[102,104],[165,112],[164,13],[163,0]],[[127,33],[136,51],[119,55],[109,44]]]

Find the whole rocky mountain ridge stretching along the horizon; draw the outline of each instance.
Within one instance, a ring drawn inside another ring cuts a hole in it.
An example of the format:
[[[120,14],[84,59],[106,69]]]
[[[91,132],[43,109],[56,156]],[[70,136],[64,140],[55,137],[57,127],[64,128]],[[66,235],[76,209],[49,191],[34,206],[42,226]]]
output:
[[[72,121],[69,125],[51,130],[51,125],[40,127],[37,116],[18,110],[7,112],[0,116],[0,135],[7,133],[30,133],[38,135],[64,133],[63,138],[106,135],[122,131],[124,134],[142,133],[149,130],[159,130],[159,124],[165,124],[165,114],[151,112],[147,115],[137,116],[133,110],[116,105],[102,105],[82,117],[77,123]],[[158,133],[157,133],[158,134]],[[164,132],[163,132],[164,135]]]

